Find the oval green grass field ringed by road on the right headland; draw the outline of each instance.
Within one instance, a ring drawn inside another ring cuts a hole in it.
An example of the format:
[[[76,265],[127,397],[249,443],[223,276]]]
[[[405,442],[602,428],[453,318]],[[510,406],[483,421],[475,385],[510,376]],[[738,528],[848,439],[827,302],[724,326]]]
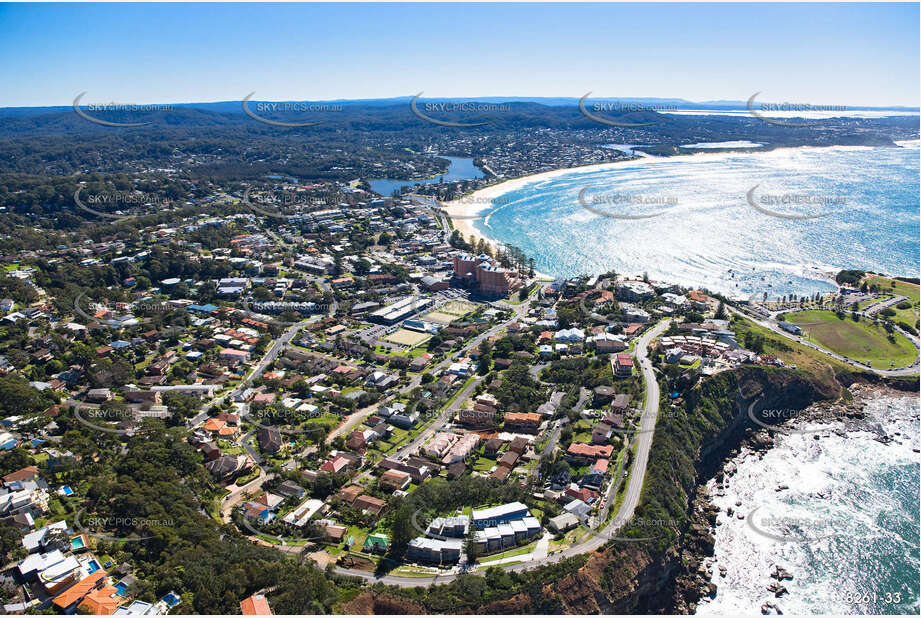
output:
[[[800,326],[806,338],[832,352],[861,362],[869,362],[876,369],[887,369],[912,364],[917,351],[910,341],[895,333],[895,343],[887,339],[882,326],[861,319],[854,322],[850,316],[843,320],[831,311],[802,311],[787,315],[787,320]]]

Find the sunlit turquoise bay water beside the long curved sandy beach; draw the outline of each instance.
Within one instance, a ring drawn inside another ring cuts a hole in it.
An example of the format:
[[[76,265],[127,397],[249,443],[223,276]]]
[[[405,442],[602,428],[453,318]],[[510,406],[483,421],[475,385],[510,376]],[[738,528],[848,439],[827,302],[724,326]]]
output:
[[[473,224],[553,276],[648,272],[739,298],[829,291],[827,273],[841,268],[917,277],[918,142],[904,146],[647,157],[530,183]],[[758,204],[807,198],[771,210],[825,216],[762,214],[746,198],[756,185]],[[659,214],[602,216],[580,203],[583,190],[602,213]]]

